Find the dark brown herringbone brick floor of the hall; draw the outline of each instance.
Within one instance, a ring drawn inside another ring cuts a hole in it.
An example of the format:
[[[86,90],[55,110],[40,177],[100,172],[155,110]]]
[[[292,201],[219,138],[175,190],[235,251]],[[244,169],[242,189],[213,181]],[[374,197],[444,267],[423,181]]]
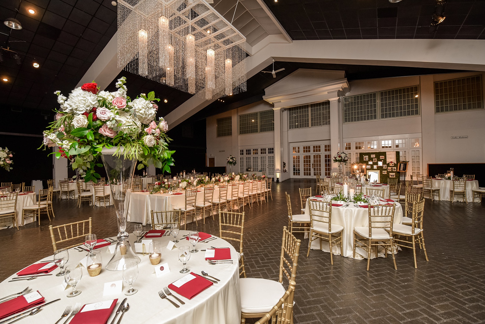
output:
[[[310,179],[274,183],[273,200],[245,206],[244,257],[249,277],[277,280],[282,227],[288,224],[284,193],[291,194],[293,210],[299,210],[298,188],[312,186]],[[113,207],[76,207],[74,200],[55,202],[60,225],[93,217],[99,237],[116,234]],[[2,259],[0,280],[52,254],[49,222],[0,230]],[[200,224],[200,223],[199,223]],[[129,226],[131,231],[133,223]],[[464,204],[429,199],[425,205],[425,239],[429,262],[418,251],[414,269],[411,250],[392,259],[367,261],[312,250],[302,240],[295,293],[295,323],[485,323],[485,201]],[[195,224],[188,226],[195,228]],[[148,227],[146,227],[148,228]],[[217,220],[207,218],[199,230],[218,235]]]

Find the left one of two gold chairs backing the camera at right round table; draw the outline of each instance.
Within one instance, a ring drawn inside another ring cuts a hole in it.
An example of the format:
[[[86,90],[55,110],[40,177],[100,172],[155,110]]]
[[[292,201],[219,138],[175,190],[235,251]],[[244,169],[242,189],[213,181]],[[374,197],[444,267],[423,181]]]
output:
[[[332,202],[308,200],[310,209],[310,235],[307,257],[310,256],[310,246],[313,241],[320,239],[328,242],[330,248],[330,264],[333,265],[333,247],[340,245],[340,255],[343,255],[342,232],[343,226],[332,224]]]

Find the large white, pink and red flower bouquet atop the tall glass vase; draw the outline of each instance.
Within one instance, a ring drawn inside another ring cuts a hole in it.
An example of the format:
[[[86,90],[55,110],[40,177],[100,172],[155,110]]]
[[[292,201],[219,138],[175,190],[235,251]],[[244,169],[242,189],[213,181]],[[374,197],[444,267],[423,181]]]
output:
[[[155,121],[155,101],[160,99],[154,92],[130,99],[125,83],[125,77],[118,79],[115,92],[98,91],[96,83],[84,83],[69,97],[55,92],[61,107],[57,120],[44,131],[44,146],[59,146],[59,152],[52,154],[71,160],[85,182],[100,178],[94,167],[102,166],[98,160],[103,148],[115,147],[115,155],[138,160],[139,170],[155,165],[170,172],[174,165],[167,122],[162,117]]]

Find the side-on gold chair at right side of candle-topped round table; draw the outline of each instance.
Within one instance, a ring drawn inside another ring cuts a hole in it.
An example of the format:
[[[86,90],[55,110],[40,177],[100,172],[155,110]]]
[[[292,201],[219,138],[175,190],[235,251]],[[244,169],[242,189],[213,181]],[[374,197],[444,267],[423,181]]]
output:
[[[413,249],[414,268],[416,269],[418,268],[418,264],[416,263],[416,242],[418,242],[420,247],[422,246],[426,261],[429,261],[428,254],[426,253],[426,246],[424,245],[423,215],[424,199],[421,201],[413,202],[411,226],[394,224],[392,228],[392,234],[394,235],[394,244],[397,246]],[[409,239],[411,241],[409,241]],[[409,244],[411,244],[411,246],[409,246]]]

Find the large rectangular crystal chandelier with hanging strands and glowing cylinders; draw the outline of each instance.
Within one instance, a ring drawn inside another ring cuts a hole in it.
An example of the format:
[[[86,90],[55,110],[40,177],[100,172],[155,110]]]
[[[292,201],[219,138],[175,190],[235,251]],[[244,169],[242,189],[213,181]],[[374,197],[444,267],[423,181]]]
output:
[[[118,0],[118,67],[210,100],[246,91],[246,38],[205,0]]]

